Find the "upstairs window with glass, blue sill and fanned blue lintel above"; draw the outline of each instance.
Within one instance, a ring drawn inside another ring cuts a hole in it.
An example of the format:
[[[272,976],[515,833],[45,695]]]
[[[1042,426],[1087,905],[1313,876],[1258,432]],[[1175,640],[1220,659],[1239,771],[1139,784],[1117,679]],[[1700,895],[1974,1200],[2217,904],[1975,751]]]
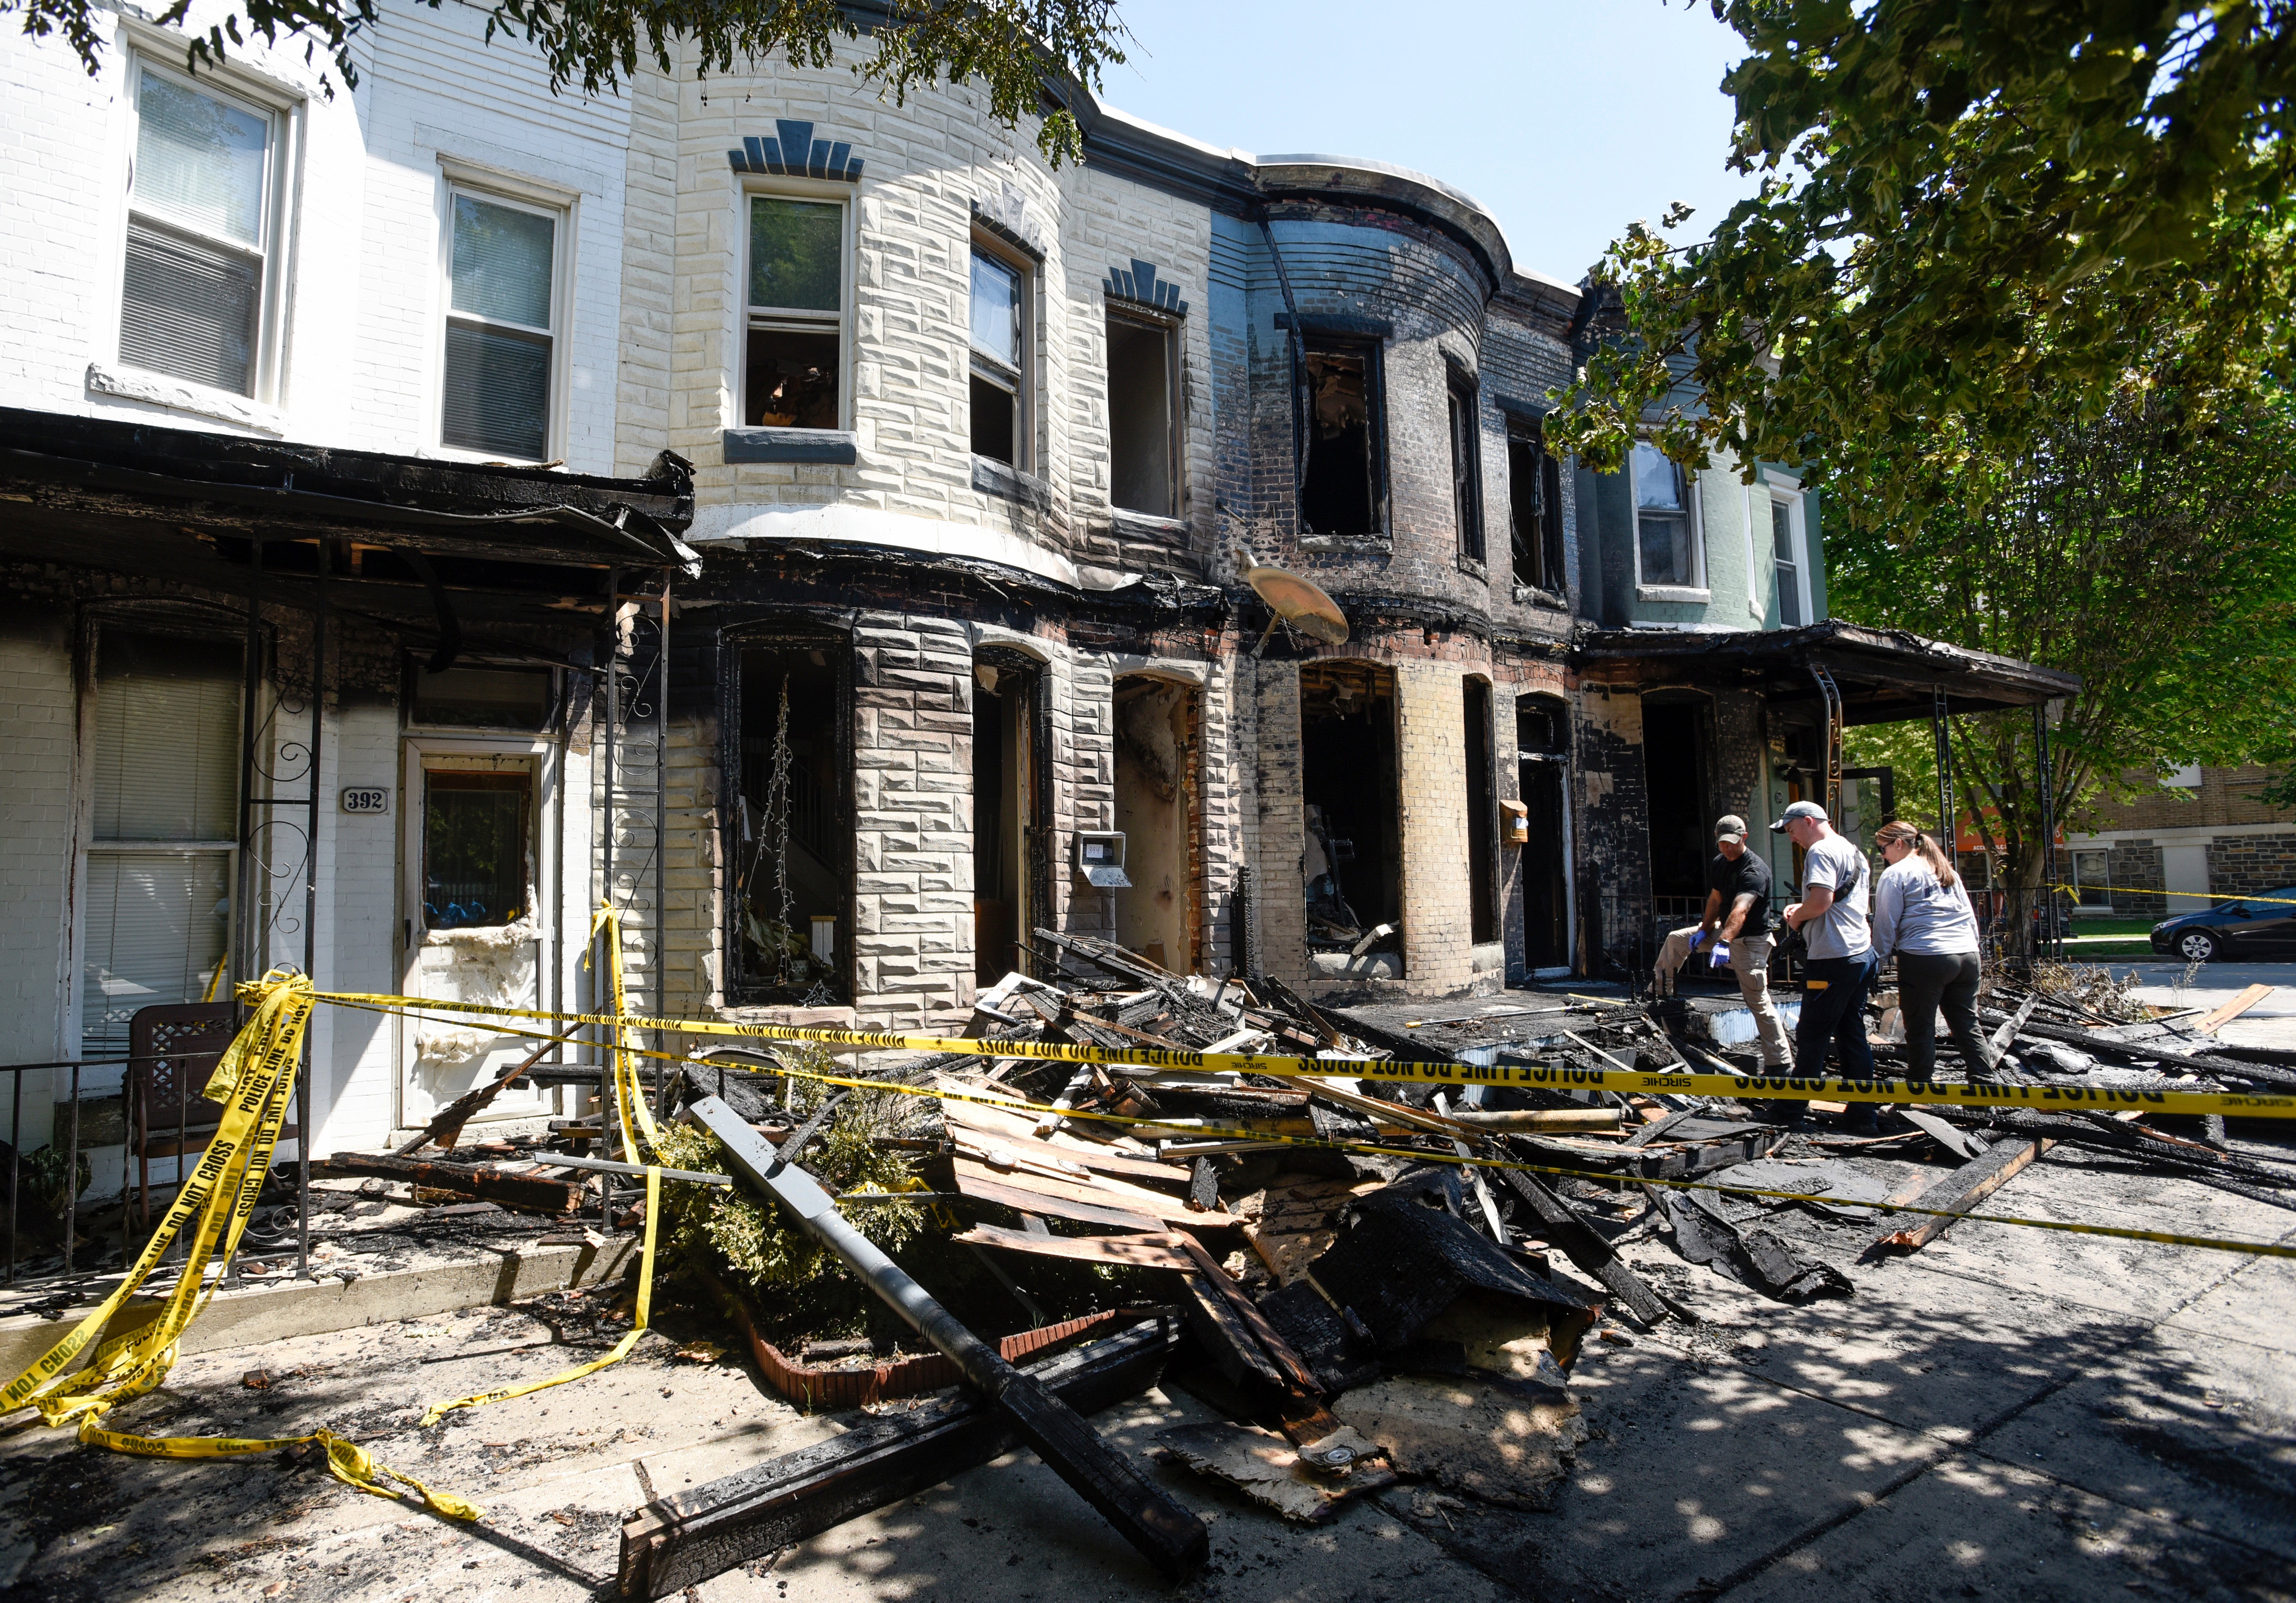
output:
[[[742,423],[836,429],[845,351],[845,202],[748,198]]]

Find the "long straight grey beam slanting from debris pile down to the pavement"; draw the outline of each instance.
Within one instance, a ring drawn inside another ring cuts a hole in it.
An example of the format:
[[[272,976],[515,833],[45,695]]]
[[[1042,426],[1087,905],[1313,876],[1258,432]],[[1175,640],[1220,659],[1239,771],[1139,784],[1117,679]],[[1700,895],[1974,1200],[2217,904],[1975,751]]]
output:
[[[1114,1451],[1054,1394],[1013,1369],[994,1348],[925,1295],[891,1259],[870,1245],[813,1176],[781,1162],[755,1130],[721,1102],[703,1098],[687,1109],[726,1148],[726,1162],[753,1187],[774,1197],[797,1224],[845,1259],[868,1288],[937,1346],[976,1387],[994,1399],[1029,1447],[1086,1502],[1100,1509],[1166,1578],[1182,1580],[1203,1566],[1212,1539],[1203,1520],[1173,1502],[1139,1468]]]

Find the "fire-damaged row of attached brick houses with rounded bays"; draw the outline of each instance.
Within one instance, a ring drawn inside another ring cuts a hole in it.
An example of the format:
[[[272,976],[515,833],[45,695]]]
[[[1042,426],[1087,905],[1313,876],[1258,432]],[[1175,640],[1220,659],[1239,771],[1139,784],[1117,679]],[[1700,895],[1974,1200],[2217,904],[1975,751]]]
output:
[[[400,0],[328,96],[106,16],[94,78],[0,48],[46,241],[0,266],[0,1040],[80,1063],[21,1144],[78,1107],[113,1183],[163,1146],[135,1015],[271,965],[585,1008],[611,903],[687,1017],[946,1027],[1038,928],[1309,994],[1603,974],[1717,813],[1880,820],[1846,721],[2064,694],[1828,622],[1791,475],[1548,455],[1600,308],[1440,179],[1091,101],[1056,168],[845,64],[551,96]],[[523,1052],[331,1010],[315,1146]]]

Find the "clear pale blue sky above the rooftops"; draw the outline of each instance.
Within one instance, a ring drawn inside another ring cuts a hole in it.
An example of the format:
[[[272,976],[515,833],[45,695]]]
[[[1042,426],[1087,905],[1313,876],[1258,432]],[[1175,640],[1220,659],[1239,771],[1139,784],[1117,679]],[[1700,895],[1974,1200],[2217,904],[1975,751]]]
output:
[[[1575,282],[1635,218],[1713,227],[1752,184],[1722,163],[1722,71],[1743,53],[1706,0],[1120,0],[1137,44],[1104,96],[1261,156],[1417,168],[1499,218],[1515,264]]]

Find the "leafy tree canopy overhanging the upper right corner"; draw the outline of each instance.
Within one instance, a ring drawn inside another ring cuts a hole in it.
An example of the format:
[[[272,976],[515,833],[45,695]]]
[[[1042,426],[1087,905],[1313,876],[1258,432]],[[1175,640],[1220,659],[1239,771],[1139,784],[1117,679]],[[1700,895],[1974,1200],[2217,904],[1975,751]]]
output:
[[[1896,514],[2138,367],[2188,427],[2285,374],[2296,0],[1711,5],[1750,46],[1722,83],[1761,191],[1688,250],[1612,246],[1628,338],[1557,448],[1616,466],[1655,413],[1681,462],[1841,468]]]

